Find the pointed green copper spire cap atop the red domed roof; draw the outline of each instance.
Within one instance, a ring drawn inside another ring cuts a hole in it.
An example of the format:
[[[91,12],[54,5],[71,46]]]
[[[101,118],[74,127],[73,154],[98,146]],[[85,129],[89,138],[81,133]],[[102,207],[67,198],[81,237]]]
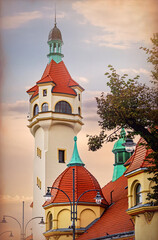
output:
[[[79,153],[78,153],[78,149],[77,149],[77,137],[74,137],[74,150],[73,150],[73,154],[71,157],[70,162],[67,164],[68,167],[70,166],[84,166],[85,164],[82,162]]]

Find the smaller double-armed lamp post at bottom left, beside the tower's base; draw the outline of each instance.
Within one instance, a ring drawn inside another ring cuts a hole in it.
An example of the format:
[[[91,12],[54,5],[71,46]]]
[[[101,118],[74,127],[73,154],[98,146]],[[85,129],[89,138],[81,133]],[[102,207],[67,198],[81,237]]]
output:
[[[24,225],[22,226],[21,223],[15,218],[15,217],[12,217],[12,216],[8,216],[8,215],[4,215],[3,216],[3,219],[1,221],[1,223],[7,223],[6,219],[5,218],[12,218],[14,219],[18,224],[19,224],[19,227],[20,227],[20,231],[21,231],[21,240],[24,240],[25,239],[25,235],[26,235],[26,228],[27,228],[27,225],[29,224],[29,222],[31,222],[32,220],[36,219],[36,218],[40,218],[41,221],[39,224],[41,225],[44,225],[44,221],[43,221],[43,217],[34,217],[34,218],[31,218],[25,225],[25,230],[24,230]]]

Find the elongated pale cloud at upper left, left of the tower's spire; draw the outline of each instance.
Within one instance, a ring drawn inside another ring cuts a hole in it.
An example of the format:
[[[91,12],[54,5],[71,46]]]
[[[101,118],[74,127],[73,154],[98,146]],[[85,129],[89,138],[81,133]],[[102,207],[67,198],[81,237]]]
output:
[[[14,16],[5,16],[1,18],[1,27],[3,29],[15,29],[19,28],[28,22],[42,18],[43,15],[39,11],[21,12]]]

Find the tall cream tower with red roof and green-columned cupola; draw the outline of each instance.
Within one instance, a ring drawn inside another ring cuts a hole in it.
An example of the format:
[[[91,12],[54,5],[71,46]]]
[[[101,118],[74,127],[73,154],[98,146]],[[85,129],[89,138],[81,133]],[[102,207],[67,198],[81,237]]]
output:
[[[54,28],[48,37],[49,63],[42,78],[27,91],[30,95],[28,127],[35,138],[33,217],[44,217],[46,188],[66,168],[73,152],[73,138],[81,130],[82,91],[62,61],[62,35]],[[42,240],[43,229],[33,221],[33,239]]]

